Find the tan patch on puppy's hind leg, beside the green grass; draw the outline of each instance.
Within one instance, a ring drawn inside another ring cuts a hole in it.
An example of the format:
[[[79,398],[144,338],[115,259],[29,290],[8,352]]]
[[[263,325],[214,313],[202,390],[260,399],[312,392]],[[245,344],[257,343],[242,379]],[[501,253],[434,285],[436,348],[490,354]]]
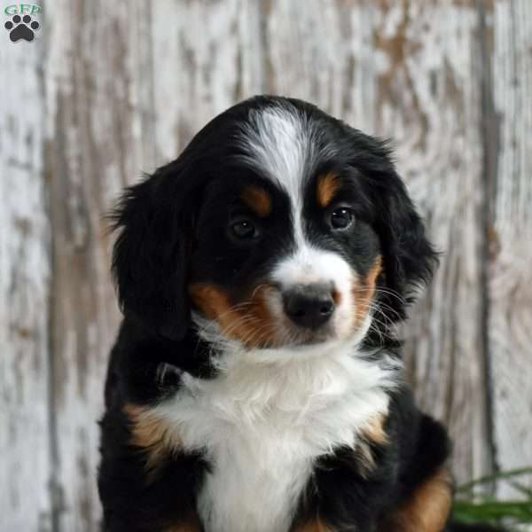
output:
[[[440,469],[395,513],[394,532],[442,532],[452,505],[450,473]]]

